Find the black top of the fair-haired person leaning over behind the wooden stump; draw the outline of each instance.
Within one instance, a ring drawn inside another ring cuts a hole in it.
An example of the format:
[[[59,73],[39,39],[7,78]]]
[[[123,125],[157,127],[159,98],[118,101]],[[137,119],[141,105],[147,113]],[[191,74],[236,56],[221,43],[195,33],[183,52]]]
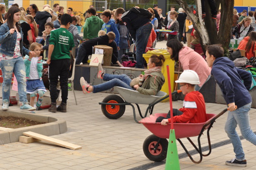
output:
[[[112,64],[116,64],[117,57],[118,57],[117,45],[116,45],[115,41],[113,41],[112,43],[109,44],[109,36],[108,35],[92,38],[88,41],[84,41],[81,45],[85,48],[86,55],[92,55],[92,53],[93,53],[92,47],[94,45],[108,45],[108,46],[112,47],[113,53],[112,53],[111,62],[112,62]]]

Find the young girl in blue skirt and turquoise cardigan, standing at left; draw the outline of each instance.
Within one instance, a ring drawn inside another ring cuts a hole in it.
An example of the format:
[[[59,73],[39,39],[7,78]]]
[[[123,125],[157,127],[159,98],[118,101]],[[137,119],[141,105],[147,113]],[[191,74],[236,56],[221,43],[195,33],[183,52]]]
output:
[[[27,93],[30,94],[30,105],[34,106],[34,100],[39,94],[39,99],[36,103],[36,110],[41,110],[40,106],[43,101],[43,94],[46,89],[42,81],[42,56],[41,53],[41,44],[32,43],[29,50],[36,53],[35,57],[25,56],[24,62],[26,67],[26,79],[27,79]]]

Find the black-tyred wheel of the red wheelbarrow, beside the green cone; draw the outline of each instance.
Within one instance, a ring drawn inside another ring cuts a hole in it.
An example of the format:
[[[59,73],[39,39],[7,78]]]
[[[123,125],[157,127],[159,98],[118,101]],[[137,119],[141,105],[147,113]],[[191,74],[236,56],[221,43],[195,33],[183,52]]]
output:
[[[160,140],[159,140],[160,139]],[[158,147],[155,148],[157,142]],[[143,151],[148,159],[153,161],[162,161],[166,158],[168,148],[167,139],[159,138],[154,134],[148,136],[143,143]]]

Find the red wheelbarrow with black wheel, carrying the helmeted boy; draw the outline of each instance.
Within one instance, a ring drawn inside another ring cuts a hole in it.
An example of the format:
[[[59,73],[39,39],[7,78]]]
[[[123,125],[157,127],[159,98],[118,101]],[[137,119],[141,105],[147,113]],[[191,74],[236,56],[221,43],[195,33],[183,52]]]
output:
[[[209,131],[213,126],[215,120],[223,115],[227,109],[223,110],[218,115],[215,114],[207,114],[207,121],[202,123],[174,123],[175,136],[179,141],[181,146],[186,151],[188,157],[192,160],[193,163],[200,163],[203,159],[203,156],[208,156],[211,153],[211,143],[210,143],[210,134]],[[170,133],[170,123],[167,126],[161,125],[159,122],[155,122],[157,117],[163,116],[166,117],[167,113],[155,113],[150,115],[149,117],[145,117],[139,122],[142,123],[150,132],[153,134],[148,136],[143,143],[143,151],[145,156],[153,161],[162,161],[167,156],[167,147]],[[208,147],[209,152],[207,154],[202,153],[200,137],[203,132],[207,129],[207,138],[208,138]],[[191,141],[189,137],[198,136],[198,147]],[[188,141],[193,145],[196,151],[200,154],[200,160],[195,161],[182,141],[181,138],[187,138]]]

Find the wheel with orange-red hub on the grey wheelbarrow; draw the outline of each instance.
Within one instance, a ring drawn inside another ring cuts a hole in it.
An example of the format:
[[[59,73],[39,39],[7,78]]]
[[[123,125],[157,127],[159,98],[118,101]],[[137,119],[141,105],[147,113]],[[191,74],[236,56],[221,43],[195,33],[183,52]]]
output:
[[[103,99],[103,103],[124,103],[123,98],[117,95],[109,95]],[[102,113],[109,119],[118,119],[126,110],[126,105],[101,105]]]

